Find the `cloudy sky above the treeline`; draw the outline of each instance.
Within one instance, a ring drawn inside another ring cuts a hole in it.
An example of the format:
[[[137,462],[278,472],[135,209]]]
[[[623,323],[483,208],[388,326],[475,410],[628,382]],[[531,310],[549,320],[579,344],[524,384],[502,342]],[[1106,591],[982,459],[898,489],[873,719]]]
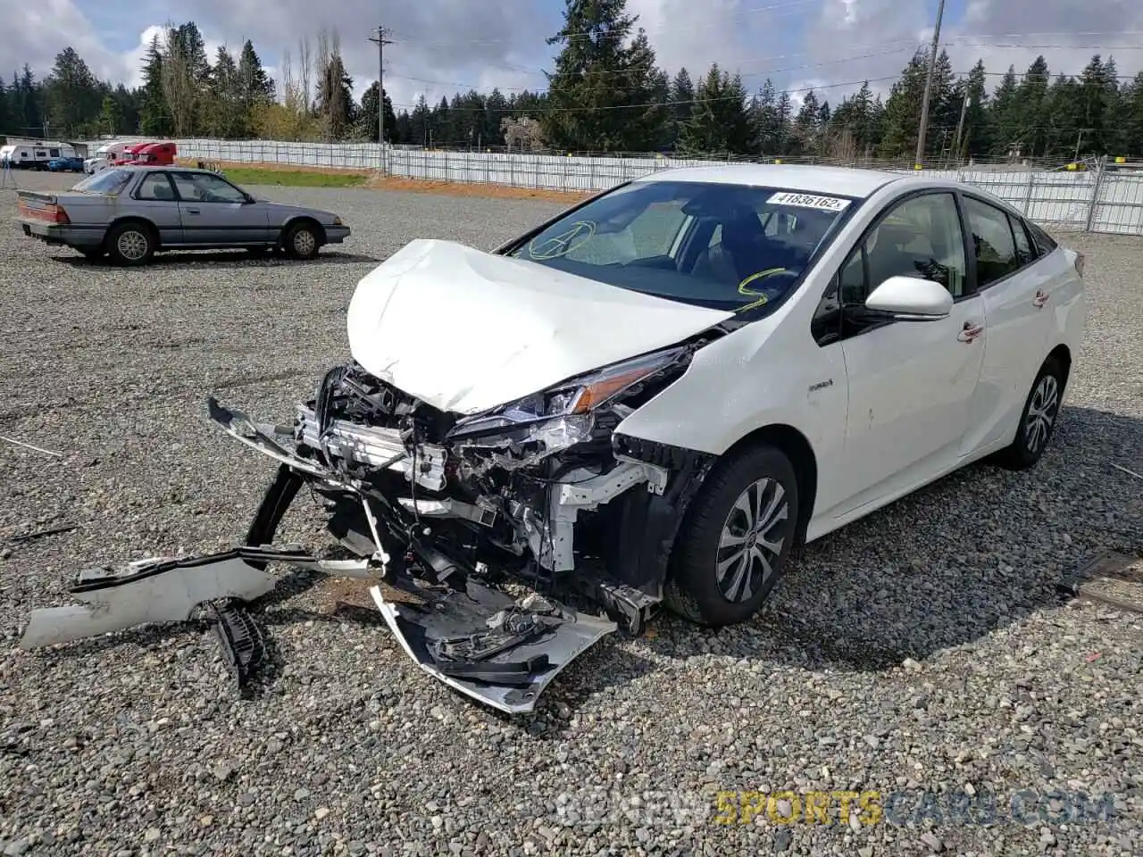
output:
[[[545,38],[563,0],[0,0],[0,73],[27,63],[42,75],[73,46],[103,79],[135,85],[152,33],[193,19],[209,53],[254,41],[272,74],[298,41],[336,30],[358,94],[377,74],[368,32],[384,23],[385,88],[398,110],[469,87],[542,89],[558,46]],[[797,93],[823,88],[834,103],[870,79],[886,90],[912,51],[932,39],[937,0],[629,0],[660,64],[697,78],[714,61],[757,89],[769,77]],[[948,0],[942,45],[953,69],[977,57],[990,72],[1022,71],[1044,54],[1052,72],[1078,73],[1094,53],[1112,54],[1122,75],[1143,69],[1140,0]],[[991,82],[996,82],[992,78]]]

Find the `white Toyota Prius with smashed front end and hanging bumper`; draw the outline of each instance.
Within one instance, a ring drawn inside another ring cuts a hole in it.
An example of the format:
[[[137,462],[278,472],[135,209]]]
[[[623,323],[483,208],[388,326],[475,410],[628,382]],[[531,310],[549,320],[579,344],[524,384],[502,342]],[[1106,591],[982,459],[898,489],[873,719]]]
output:
[[[661,604],[743,622],[797,545],[970,462],[1044,454],[1084,257],[926,175],[741,165],[624,183],[494,251],[417,240],[358,285],[350,358],[288,426],[247,544],[85,572],[27,647],[246,606],[287,563],[373,582],[426,672],[528,711]],[[273,548],[303,486],[331,548]]]

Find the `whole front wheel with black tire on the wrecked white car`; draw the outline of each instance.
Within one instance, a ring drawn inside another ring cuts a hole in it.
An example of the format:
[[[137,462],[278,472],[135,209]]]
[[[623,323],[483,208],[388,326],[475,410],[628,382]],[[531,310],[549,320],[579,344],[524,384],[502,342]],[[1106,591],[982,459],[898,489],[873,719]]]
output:
[[[724,459],[679,531],[666,606],[710,627],[758,612],[785,571],[798,504],[798,478],[780,449],[756,446]]]

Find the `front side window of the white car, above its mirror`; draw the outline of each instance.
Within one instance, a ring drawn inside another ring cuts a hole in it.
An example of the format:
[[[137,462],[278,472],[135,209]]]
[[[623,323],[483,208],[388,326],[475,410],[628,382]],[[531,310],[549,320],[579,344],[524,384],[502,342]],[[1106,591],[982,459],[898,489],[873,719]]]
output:
[[[951,193],[926,193],[897,203],[866,233],[834,274],[814,317],[818,345],[890,323],[865,309],[873,290],[890,277],[933,280],[958,298],[967,265],[957,201]]]

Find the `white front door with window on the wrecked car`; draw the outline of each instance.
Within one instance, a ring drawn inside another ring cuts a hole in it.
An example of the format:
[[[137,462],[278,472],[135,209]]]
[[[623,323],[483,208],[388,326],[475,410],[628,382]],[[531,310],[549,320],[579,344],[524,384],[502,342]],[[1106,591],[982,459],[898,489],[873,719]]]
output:
[[[984,299],[966,290],[964,232],[952,193],[890,203],[840,272],[841,337],[849,385],[847,499],[838,515],[900,496],[959,457],[984,357]],[[895,320],[865,309],[889,277],[941,282],[949,317]]]

